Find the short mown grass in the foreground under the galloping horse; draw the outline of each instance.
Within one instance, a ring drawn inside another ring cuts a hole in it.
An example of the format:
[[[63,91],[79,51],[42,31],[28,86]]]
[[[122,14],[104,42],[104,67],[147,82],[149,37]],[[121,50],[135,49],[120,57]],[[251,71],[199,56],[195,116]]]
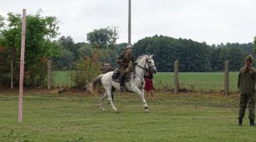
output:
[[[0,92],[0,141],[256,141],[247,114],[237,126],[237,94],[157,93],[144,113],[139,96],[117,93],[120,113],[107,100],[101,113],[99,96],[25,91],[22,123],[17,94]]]

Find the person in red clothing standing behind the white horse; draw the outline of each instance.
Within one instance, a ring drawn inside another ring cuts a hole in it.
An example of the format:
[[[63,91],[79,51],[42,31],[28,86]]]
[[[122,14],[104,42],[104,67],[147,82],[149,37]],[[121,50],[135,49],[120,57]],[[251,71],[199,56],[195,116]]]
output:
[[[151,74],[150,72],[145,72],[145,75],[144,75],[144,79],[145,79],[145,87],[144,87],[144,90],[147,94],[147,98],[146,100],[149,99],[149,96],[148,96],[148,92],[151,92],[151,100],[154,100],[153,99],[153,81],[152,81],[152,78],[153,78],[153,74]]]

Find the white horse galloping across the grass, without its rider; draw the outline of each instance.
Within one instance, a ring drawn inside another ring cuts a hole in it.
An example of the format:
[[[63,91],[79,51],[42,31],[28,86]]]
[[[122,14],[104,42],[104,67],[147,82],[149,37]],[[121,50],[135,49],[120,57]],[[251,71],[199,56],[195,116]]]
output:
[[[141,101],[143,102],[145,112],[147,113],[149,112],[149,108],[144,98],[144,74],[146,70],[149,70],[150,72],[153,72],[155,74],[157,69],[155,68],[153,55],[139,56],[139,58],[137,58],[136,63],[137,64],[135,64],[133,72],[131,72],[131,78],[129,82],[125,82],[125,89],[129,92],[136,92],[137,94],[139,94]],[[113,104],[112,93],[113,91],[120,89],[120,84],[119,82],[114,82],[112,80],[113,73],[114,72],[107,72],[106,74],[101,74],[97,76],[97,78],[95,78],[95,80],[92,81],[91,91],[92,93],[96,92],[98,88],[97,86],[102,84],[106,92],[101,95],[100,111],[105,111],[105,109],[103,109],[103,100],[108,96],[109,102],[113,107],[113,110],[115,111],[115,113],[119,113],[119,111]]]

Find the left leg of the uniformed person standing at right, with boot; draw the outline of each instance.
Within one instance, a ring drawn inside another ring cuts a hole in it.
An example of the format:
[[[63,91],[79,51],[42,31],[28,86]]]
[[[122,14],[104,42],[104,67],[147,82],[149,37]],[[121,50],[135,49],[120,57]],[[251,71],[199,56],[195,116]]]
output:
[[[240,94],[240,102],[239,102],[239,125],[243,123],[243,117],[245,117],[245,109],[247,106],[247,94]]]

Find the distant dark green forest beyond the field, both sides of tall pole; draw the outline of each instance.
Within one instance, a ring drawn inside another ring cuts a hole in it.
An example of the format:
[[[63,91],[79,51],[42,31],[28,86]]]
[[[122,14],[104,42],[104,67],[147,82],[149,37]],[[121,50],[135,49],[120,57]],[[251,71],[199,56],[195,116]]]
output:
[[[74,43],[72,38],[58,40],[64,48],[61,56],[55,58],[57,70],[72,70],[74,63],[83,56],[90,56],[98,50],[99,60],[117,68],[115,58],[124,51],[127,43],[115,44],[105,48],[95,48],[88,43]],[[133,54],[137,58],[142,54],[154,54],[155,65],[159,72],[173,72],[174,60],[179,61],[180,72],[220,72],[224,70],[225,60],[229,60],[231,71],[238,71],[249,54],[255,56],[253,43],[227,43],[207,45],[205,42],[175,39],[168,36],[143,38],[133,45]]]

